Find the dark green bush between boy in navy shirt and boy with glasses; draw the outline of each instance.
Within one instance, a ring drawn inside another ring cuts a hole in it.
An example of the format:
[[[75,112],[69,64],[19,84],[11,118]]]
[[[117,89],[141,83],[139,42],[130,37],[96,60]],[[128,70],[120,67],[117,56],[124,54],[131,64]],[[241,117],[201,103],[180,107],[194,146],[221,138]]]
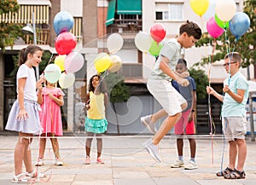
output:
[[[207,75],[203,70],[195,70],[195,68],[189,69],[189,75],[195,79],[197,100],[204,100],[207,97],[206,87],[209,84]]]

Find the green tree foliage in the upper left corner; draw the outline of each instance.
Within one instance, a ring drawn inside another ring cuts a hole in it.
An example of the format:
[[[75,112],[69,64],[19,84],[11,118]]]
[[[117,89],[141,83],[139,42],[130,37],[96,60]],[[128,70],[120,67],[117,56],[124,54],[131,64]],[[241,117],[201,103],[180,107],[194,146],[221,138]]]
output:
[[[20,9],[20,5],[16,0],[1,0],[0,1],[0,15],[15,14]],[[3,17],[3,16],[2,16]],[[7,23],[0,20],[0,48],[4,52],[6,46],[13,46],[15,40],[21,37],[21,25],[17,23]]]

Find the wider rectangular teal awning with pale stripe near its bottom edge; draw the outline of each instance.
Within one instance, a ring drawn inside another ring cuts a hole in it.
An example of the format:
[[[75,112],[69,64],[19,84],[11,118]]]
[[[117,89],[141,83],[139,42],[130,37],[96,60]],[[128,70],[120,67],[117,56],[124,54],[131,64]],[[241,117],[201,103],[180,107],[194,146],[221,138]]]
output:
[[[117,14],[142,14],[142,0],[118,0]]]

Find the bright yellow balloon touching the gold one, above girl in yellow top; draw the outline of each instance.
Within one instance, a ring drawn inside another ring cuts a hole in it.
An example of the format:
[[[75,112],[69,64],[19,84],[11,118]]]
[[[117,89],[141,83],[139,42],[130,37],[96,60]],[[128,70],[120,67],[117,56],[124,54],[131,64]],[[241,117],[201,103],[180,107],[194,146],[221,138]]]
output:
[[[111,60],[108,54],[99,53],[96,55],[96,60],[94,61],[95,68],[97,72],[105,72],[111,64]]]

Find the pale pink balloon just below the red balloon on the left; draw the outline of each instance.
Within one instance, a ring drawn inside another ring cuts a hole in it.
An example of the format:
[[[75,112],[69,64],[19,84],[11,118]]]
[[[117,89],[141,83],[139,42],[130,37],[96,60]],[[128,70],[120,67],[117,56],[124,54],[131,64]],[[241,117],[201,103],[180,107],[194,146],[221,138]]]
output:
[[[84,56],[79,52],[71,52],[67,55],[64,66],[66,72],[78,72],[84,66]]]

